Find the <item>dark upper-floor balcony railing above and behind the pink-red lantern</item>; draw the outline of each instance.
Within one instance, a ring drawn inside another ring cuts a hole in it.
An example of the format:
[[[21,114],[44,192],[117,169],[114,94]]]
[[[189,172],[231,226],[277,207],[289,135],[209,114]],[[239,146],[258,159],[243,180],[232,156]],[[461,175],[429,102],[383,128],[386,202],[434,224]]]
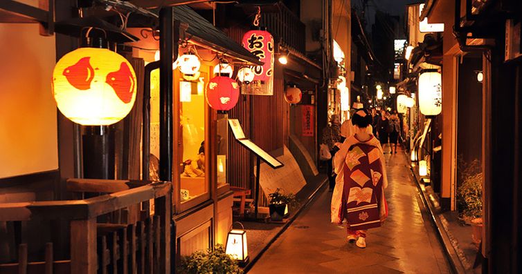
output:
[[[261,26],[266,26],[277,42],[282,40],[305,55],[305,24],[283,3],[278,3],[278,6],[279,12],[262,14]]]

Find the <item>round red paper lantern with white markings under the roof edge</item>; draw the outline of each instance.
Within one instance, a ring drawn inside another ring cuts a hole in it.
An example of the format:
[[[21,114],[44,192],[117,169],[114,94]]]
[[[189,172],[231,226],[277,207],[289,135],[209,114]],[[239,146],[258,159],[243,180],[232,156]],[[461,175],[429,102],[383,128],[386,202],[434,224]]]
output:
[[[206,101],[215,110],[230,110],[240,98],[239,85],[230,77],[216,76],[208,81]]]

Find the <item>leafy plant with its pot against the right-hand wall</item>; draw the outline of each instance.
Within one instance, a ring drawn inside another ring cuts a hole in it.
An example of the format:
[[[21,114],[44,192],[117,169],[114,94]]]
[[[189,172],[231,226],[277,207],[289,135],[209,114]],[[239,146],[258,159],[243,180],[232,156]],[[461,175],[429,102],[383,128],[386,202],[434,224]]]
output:
[[[462,209],[462,219],[471,224],[473,233],[471,239],[478,246],[482,240],[482,173],[464,178],[457,190],[458,204]]]

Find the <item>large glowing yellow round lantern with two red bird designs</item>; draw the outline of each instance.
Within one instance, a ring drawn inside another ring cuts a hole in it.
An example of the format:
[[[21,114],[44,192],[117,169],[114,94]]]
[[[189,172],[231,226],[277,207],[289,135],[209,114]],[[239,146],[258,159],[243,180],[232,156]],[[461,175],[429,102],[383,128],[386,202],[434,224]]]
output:
[[[136,99],[136,74],[127,59],[105,48],[78,48],[56,63],[52,90],[58,109],[84,126],[123,119]]]

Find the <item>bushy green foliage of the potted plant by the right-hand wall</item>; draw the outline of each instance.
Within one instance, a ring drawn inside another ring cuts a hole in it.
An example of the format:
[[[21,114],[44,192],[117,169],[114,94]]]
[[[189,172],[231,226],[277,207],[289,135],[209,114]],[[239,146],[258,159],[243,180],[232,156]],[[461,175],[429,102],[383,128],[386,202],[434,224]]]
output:
[[[458,204],[465,217],[482,217],[482,180],[482,173],[469,175],[457,189]]]

